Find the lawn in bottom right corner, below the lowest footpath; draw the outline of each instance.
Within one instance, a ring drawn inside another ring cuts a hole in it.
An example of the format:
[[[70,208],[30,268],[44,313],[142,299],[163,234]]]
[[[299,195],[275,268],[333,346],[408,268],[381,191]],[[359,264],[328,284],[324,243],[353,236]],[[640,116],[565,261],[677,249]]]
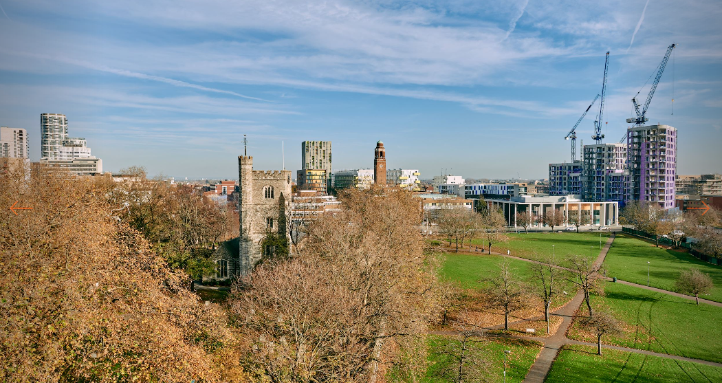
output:
[[[544,382],[722,382],[722,368],[618,350],[565,345]]]

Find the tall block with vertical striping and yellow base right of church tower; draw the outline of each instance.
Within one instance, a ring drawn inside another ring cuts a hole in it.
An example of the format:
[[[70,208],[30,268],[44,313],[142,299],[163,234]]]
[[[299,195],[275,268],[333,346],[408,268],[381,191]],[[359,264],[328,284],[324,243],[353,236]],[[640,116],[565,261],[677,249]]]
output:
[[[331,189],[331,141],[301,142],[301,170],[296,181],[301,189],[327,194]]]

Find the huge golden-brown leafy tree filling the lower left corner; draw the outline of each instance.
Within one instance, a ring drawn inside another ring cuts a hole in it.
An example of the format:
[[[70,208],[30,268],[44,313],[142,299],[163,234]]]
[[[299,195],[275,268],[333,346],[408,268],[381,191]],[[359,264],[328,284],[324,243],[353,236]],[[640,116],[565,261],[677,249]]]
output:
[[[102,178],[43,167],[0,175],[0,205],[32,207],[0,211],[0,381],[238,376],[238,363],[227,363],[240,356],[225,312],[199,301],[185,273],[118,222],[108,203],[116,185]]]

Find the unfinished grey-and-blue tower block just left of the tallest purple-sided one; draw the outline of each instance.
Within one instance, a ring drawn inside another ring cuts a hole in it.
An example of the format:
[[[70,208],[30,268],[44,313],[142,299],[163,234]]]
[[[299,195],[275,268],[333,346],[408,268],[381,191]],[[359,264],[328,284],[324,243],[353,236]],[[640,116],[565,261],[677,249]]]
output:
[[[582,161],[582,194],[586,201],[625,200],[627,145],[585,145]]]

